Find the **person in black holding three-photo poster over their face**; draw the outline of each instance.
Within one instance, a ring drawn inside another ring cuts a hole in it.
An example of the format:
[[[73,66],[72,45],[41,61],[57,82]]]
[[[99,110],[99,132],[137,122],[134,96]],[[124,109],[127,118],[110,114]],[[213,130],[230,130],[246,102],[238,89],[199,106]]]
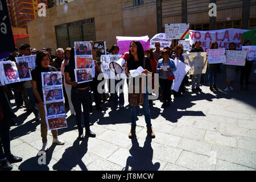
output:
[[[93,44],[93,42],[92,42]],[[93,45],[92,45],[93,47]],[[89,137],[96,137],[96,134],[90,131],[89,125],[89,112],[90,112],[90,90],[89,82],[84,82],[77,84],[75,80],[75,49],[72,48],[70,51],[69,63],[65,66],[65,81],[68,85],[72,85],[71,89],[71,101],[76,111],[76,124],[79,130],[79,140],[84,139],[83,129],[82,129],[82,111],[81,104],[84,109],[84,125],[85,125],[85,135]]]

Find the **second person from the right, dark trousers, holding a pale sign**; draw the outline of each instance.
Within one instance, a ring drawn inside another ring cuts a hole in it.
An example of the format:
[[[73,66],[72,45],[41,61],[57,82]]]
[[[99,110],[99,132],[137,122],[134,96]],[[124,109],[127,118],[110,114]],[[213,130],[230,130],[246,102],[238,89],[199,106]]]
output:
[[[229,50],[236,51],[236,44],[234,42],[229,44]],[[226,65],[226,88],[224,91],[234,90],[232,84],[236,77],[236,65]]]

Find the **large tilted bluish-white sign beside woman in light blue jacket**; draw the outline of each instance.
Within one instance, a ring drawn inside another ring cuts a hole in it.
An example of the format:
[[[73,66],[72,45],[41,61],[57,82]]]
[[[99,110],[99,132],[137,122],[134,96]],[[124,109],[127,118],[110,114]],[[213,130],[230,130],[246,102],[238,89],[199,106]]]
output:
[[[174,63],[177,69],[176,71],[174,71],[175,79],[174,81],[172,81],[171,89],[178,92],[180,88],[180,84],[183,81],[184,76],[189,71],[190,67],[187,64],[183,63],[182,61],[178,60],[177,58],[174,60]]]

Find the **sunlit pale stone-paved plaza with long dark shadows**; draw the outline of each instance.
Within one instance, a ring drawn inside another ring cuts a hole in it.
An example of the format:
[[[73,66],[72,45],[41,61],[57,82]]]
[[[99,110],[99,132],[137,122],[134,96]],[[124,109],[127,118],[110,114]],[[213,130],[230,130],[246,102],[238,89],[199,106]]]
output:
[[[255,170],[256,74],[251,73],[249,91],[239,89],[239,76],[240,73],[234,91],[223,91],[225,73],[218,73],[218,92],[210,92],[204,77],[201,93],[192,93],[189,83],[184,96],[172,96],[167,109],[160,108],[159,100],[154,101],[150,110],[155,139],[146,135],[142,107],[137,138],[128,138],[127,92],[125,109],[111,110],[104,104],[104,111],[90,114],[96,138],[79,142],[75,118],[69,117],[69,111],[68,128],[58,131],[64,146],[52,144],[48,131],[45,165],[38,164],[42,147],[40,122],[34,121],[34,114],[15,110],[12,100],[18,118],[14,119],[16,126],[11,126],[11,151],[23,157],[13,170]]]

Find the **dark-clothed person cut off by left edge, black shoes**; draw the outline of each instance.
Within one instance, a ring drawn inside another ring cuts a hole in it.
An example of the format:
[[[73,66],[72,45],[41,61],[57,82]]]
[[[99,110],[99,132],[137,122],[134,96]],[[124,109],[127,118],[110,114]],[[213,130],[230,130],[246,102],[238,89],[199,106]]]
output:
[[[0,86],[0,169],[11,170],[11,163],[21,162],[22,158],[11,154],[10,121],[13,118],[13,111],[3,89],[3,86]]]

